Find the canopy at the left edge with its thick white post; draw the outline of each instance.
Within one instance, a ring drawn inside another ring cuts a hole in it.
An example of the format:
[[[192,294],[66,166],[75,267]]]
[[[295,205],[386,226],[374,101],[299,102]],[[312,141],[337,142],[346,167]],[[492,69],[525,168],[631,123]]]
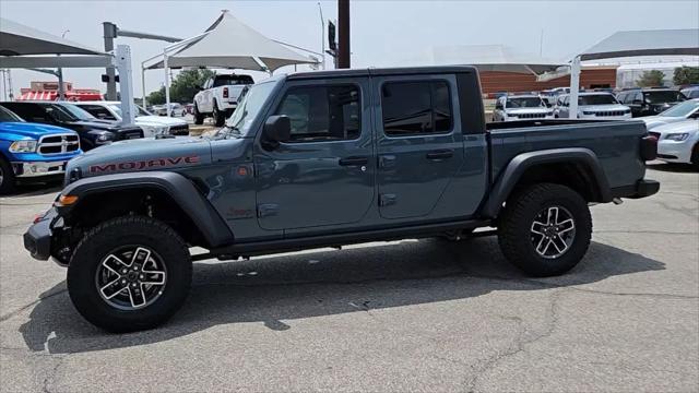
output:
[[[68,55],[68,56],[66,56]],[[104,68],[119,70],[121,108],[125,122],[134,121],[131,86],[131,52],[120,45],[116,53],[75,44],[23,24],[0,19],[0,68]]]

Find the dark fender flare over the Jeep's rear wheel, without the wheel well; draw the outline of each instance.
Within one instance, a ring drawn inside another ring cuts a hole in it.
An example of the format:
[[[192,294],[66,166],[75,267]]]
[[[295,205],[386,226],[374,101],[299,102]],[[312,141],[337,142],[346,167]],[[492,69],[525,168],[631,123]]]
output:
[[[502,171],[502,176],[500,176],[490,189],[490,194],[483,206],[482,215],[489,218],[497,217],[502,207],[502,203],[507,201],[526,169],[535,165],[556,163],[582,164],[590,170],[590,175],[596,182],[600,202],[612,201],[609,182],[594,152],[584,147],[552,148],[522,153],[514,156]]]

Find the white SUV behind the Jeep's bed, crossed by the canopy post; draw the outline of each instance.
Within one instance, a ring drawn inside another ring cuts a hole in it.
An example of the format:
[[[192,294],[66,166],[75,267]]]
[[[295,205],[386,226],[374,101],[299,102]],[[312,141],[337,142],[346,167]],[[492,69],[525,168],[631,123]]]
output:
[[[558,96],[555,118],[567,119],[570,115],[570,95]],[[578,95],[578,119],[623,120],[631,118],[631,109],[619,102],[611,93],[581,92]]]

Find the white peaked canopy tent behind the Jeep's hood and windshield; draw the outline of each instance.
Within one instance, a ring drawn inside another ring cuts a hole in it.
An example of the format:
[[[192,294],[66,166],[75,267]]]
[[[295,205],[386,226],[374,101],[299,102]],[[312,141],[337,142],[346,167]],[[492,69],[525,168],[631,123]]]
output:
[[[161,56],[163,60],[145,66]],[[163,55],[144,61],[142,72],[146,69],[165,69],[165,97],[169,107],[168,69],[171,68],[206,67],[272,72],[284,66],[316,62],[266,38],[224,10],[203,34],[170,45]]]

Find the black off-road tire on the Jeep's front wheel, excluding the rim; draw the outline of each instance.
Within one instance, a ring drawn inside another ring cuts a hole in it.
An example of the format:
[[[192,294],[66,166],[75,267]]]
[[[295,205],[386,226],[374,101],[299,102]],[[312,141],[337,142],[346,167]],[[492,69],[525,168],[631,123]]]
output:
[[[167,271],[161,294],[143,308],[115,308],[99,293],[97,267],[125,246],[149,248]],[[109,332],[133,332],[155,327],[175,314],[187,298],[191,276],[189,250],[173,228],[150,217],[119,217],[90,230],[75,247],[68,266],[68,293],[80,314],[91,323]]]

